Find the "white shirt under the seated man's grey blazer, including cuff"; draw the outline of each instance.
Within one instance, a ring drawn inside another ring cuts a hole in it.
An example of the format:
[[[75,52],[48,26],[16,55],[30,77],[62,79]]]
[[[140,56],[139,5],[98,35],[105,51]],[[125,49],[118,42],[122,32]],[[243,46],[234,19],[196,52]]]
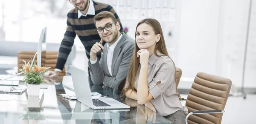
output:
[[[107,64],[108,64],[108,72],[110,73],[110,75],[113,77],[112,75],[112,60],[113,60],[113,53],[114,53],[114,49],[116,47],[116,44],[119,42],[119,40],[122,38],[122,34],[120,35],[120,37],[116,40],[115,43],[113,43],[111,46],[109,46],[107,44],[107,50],[108,50],[108,55],[107,55]],[[96,61],[92,61],[90,59],[90,63],[91,64],[95,64],[98,60],[96,59]]]

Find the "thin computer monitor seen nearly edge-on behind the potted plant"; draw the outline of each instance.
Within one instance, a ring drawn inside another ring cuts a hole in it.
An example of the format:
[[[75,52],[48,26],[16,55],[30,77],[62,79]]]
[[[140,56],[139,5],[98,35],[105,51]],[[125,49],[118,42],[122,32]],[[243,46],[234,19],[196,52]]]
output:
[[[38,54],[37,54],[37,64],[38,67],[45,66],[45,58],[46,58],[46,31],[47,27],[42,29],[41,35],[38,41]]]

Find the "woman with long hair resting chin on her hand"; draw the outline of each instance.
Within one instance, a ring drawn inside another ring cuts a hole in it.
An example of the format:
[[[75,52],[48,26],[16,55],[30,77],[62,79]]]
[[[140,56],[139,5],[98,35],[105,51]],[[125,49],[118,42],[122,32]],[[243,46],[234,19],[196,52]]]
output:
[[[138,104],[150,101],[158,114],[174,124],[185,124],[188,110],[180,103],[175,64],[168,55],[160,23],[151,18],[140,21],[135,40],[123,94]]]

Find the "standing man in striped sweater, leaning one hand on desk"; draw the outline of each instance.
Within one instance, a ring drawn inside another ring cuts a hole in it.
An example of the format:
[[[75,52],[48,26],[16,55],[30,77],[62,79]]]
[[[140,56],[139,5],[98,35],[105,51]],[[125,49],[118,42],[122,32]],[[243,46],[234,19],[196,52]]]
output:
[[[123,32],[120,19],[112,6],[104,3],[94,2],[92,0],[69,1],[75,6],[75,9],[71,10],[67,14],[67,29],[59,49],[55,72],[48,72],[46,75],[44,75],[49,78],[57,77],[58,74],[61,73],[74,44],[76,35],[78,35],[79,39],[84,45],[87,58],[90,59],[90,49],[92,48],[93,44],[100,41],[99,34],[93,21],[93,17],[99,12],[108,11],[113,13],[121,26],[120,32]],[[101,57],[100,53],[97,54],[97,57]]]

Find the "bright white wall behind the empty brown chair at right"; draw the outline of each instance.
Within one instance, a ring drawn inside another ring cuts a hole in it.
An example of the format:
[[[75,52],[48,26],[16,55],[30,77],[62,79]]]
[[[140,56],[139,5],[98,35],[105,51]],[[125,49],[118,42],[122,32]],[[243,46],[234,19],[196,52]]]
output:
[[[244,87],[256,88],[256,0],[252,0]],[[179,54],[182,77],[207,72],[242,85],[250,0],[182,0]],[[189,87],[189,86],[188,86]]]

